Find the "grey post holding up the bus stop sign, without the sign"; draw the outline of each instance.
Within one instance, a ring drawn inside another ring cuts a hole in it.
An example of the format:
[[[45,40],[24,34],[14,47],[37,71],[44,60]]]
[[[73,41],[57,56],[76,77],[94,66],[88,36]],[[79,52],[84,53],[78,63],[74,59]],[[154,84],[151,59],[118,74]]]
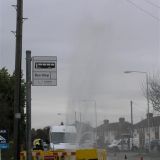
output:
[[[26,51],[26,148],[27,160],[32,159],[31,153],[31,51]]]

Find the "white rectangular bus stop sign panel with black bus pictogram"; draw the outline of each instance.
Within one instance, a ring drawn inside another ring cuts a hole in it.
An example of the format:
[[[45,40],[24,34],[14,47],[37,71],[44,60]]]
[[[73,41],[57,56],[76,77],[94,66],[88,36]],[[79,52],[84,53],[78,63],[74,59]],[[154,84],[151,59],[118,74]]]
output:
[[[57,85],[56,56],[32,57],[32,85],[33,86]]]

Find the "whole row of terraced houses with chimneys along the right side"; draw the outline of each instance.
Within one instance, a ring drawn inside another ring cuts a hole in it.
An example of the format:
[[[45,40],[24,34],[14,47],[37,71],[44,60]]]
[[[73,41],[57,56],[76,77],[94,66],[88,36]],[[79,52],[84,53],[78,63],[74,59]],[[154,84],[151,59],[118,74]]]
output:
[[[97,136],[99,141],[107,144],[115,139],[131,136],[132,130],[133,137],[139,139],[140,147],[144,147],[149,141],[149,135],[151,141],[160,139],[160,116],[153,116],[149,113],[144,120],[133,126],[125,118],[119,118],[119,121],[115,123],[104,120],[104,123],[97,128]]]

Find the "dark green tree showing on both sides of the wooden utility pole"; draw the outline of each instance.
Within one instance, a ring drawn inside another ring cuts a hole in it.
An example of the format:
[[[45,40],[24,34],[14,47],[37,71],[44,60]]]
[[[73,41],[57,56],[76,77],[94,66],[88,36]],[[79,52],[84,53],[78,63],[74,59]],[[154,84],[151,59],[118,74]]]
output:
[[[9,133],[9,141],[13,141],[14,126],[14,88],[15,75],[9,74],[6,68],[0,69],[0,129],[7,129]],[[22,79],[21,93],[21,143],[25,142],[25,83]]]

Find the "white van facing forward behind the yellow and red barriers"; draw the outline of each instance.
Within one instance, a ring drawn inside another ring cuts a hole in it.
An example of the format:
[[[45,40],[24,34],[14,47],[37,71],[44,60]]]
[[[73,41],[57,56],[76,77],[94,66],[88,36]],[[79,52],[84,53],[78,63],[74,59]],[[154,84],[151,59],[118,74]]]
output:
[[[75,126],[51,126],[49,132],[50,149],[76,149],[76,135],[77,132]]]

